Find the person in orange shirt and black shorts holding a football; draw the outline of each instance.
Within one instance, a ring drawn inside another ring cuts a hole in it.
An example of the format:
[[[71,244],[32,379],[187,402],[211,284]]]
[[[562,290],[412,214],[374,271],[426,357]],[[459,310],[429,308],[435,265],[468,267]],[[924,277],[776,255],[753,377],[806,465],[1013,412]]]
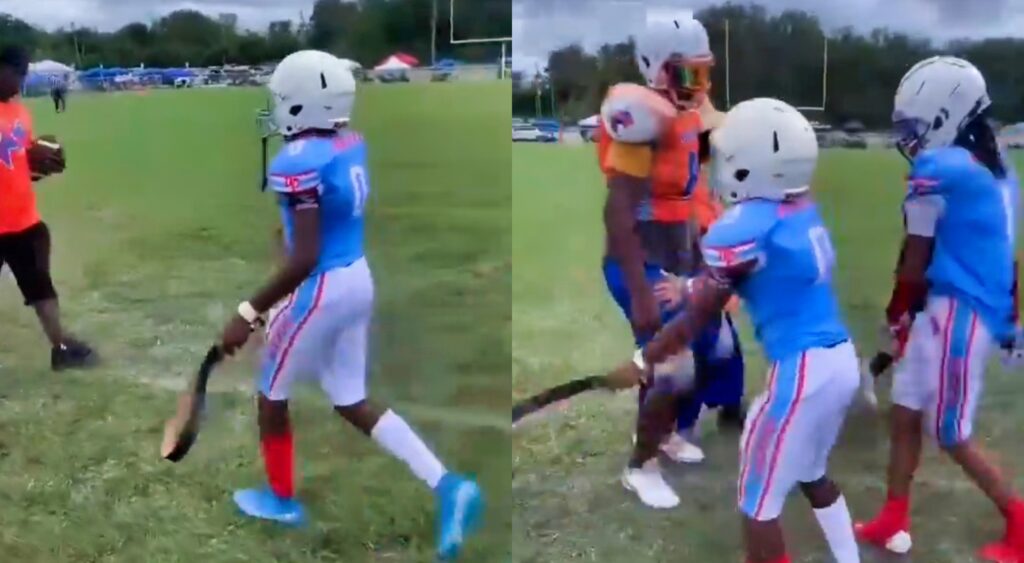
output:
[[[60,326],[50,278],[50,231],[32,186],[34,179],[63,172],[63,150],[32,135],[32,117],[17,98],[28,72],[25,49],[0,48],[0,268],[10,268],[26,305],[36,310],[52,347],[51,367],[84,367],[94,362],[95,354]]]

